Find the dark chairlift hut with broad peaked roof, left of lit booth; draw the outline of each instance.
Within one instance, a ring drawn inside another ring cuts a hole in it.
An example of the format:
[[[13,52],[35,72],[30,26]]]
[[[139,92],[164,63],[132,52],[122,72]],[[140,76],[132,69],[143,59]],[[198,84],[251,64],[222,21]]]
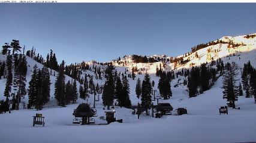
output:
[[[82,118],[82,125],[89,124],[90,123],[90,117],[94,117],[96,112],[92,110],[89,104],[82,103],[79,104],[79,106],[74,110],[73,115],[75,117],[81,117]]]

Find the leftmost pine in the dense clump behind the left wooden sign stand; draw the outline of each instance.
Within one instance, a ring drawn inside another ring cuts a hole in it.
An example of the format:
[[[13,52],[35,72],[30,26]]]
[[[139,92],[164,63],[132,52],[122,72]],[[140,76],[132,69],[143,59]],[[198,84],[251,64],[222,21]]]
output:
[[[35,64],[35,66],[33,67],[33,74],[31,76],[31,80],[29,81],[29,87],[28,87],[28,102],[29,102],[29,106],[32,107],[34,105],[36,105],[36,101],[37,101],[37,64]]]

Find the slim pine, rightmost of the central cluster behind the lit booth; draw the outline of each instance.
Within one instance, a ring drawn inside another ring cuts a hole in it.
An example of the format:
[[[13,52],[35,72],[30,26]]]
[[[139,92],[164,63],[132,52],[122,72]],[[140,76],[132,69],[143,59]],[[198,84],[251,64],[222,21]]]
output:
[[[131,100],[129,99],[129,81],[126,76],[123,78],[122,92],[124,96],[124,107],[131,108]]]

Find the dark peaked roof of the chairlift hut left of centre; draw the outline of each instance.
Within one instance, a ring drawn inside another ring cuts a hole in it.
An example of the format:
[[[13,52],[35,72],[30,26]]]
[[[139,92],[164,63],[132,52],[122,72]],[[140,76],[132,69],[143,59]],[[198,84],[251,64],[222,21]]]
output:
[[[95,115],[95,111],[92,110],[89,104],[82,103],[74,110],[73,115],[75,117],[92,117]]]

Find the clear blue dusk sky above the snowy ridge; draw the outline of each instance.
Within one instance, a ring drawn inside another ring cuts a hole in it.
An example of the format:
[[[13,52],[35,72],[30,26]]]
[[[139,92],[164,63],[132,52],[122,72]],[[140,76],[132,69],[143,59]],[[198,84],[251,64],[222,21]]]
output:
[[[0,45],[12,39],[59,63],[124,55],[177,56],[221,38],[256,33],[253,4],[0,4]]]

